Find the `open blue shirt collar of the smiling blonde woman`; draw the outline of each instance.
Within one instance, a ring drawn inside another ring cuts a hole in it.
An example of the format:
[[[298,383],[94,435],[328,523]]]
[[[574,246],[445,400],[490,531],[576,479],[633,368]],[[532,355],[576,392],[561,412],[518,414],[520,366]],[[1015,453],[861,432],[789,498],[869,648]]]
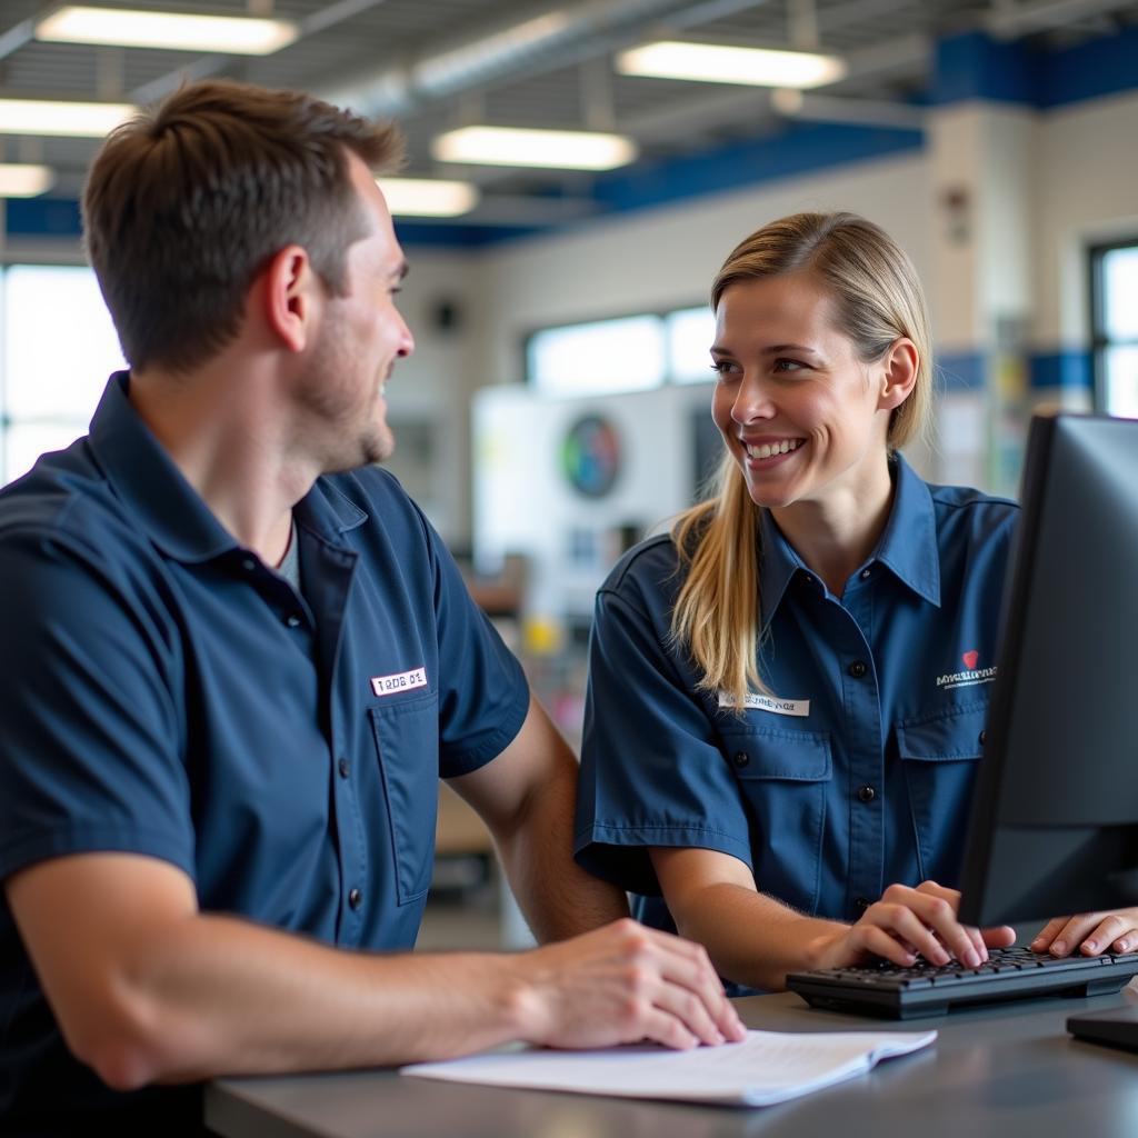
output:
[[[940,554],[932,494],[924,480],[896,454],[893,505],[889,521],[867,564],[880,561],[902,584],[931,604],[940,605]],[[759,584],[762,633],[782,603],[795,574],[814,574],[783,536],[769,510],[759,511]]]

